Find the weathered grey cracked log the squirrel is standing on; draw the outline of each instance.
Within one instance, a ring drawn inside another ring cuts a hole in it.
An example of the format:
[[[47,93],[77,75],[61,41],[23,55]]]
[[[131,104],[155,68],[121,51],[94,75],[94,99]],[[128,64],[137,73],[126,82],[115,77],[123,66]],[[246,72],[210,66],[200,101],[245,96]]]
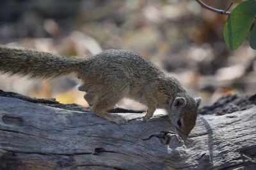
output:
[[[116,125],[89,110],[2,95],[0,169],[256,169],[255,105],[199,115],[186,143],[166,116]]]

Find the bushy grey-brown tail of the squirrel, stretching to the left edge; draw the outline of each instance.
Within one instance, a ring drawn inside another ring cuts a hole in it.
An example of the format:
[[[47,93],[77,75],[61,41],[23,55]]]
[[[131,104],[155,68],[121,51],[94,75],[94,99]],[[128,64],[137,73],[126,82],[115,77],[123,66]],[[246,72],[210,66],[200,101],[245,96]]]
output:
[[[31,78],[56,78],[77,72],[81,59],[0,46],[0,71]]]

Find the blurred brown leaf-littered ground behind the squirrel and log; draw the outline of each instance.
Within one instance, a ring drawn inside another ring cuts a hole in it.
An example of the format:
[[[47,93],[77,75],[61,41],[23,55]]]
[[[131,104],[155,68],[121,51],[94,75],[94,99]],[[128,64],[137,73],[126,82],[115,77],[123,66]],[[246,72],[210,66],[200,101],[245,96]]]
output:
[[[225,10],[232,1],[205,3]],[[247,41],[227,48],[225,20],[194,0],[1,0],[0,45],[79,57],[130,50],[176,76],[205,105],[230,93],[255,93],[256,52]],[[0,75],[2,90],[88,106],[77,85],[72,75],[51,81]],[[129,99],[119,105],[143,107]]]

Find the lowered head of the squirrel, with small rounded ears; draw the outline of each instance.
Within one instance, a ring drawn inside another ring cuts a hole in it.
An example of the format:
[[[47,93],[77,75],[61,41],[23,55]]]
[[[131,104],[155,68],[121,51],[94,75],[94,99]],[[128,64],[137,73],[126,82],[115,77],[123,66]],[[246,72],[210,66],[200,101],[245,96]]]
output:
[[[180,95],[170,101],[168,115],[175,126],[179,136],[186,140],[189,133],[195,127],[198,106],[202,98],[193,98],[188,95]]]

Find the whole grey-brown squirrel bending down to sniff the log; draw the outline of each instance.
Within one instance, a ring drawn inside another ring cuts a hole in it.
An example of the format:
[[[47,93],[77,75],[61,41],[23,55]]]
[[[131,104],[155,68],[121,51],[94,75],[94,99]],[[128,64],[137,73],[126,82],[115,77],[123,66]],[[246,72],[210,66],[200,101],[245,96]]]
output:
[[[125,50],[106,50],[88,58],[63,57],[49,52],[0,46],[0,72],[30,78],[57,78],[74,73],[78,88],[93,112],[110,122],[126,124],[120,115],[108,113],[120,99],[128,97],[147,106],[148,121],[156,108],[168,111],[177,133],[186,139],[195,127],[201,97],[193,98],[172,76],[152,62]]]

